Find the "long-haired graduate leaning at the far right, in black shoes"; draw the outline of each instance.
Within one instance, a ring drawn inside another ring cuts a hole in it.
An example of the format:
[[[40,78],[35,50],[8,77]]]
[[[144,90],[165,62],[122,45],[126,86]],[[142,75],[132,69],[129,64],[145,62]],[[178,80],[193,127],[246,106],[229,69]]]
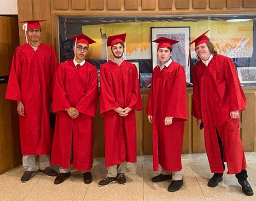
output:
[[[209,30],[207,31],[209,32]],[[239,111],[246,109],[246,99],[233,61],[218,55],[204,32],[191,42],[200,59],[193,67],[192,115],[201,129],[211,172],[208,187],[216,187],[227,174],[236,174],[242,192],[253,195],[247,181],[246,161],[240,138]]]

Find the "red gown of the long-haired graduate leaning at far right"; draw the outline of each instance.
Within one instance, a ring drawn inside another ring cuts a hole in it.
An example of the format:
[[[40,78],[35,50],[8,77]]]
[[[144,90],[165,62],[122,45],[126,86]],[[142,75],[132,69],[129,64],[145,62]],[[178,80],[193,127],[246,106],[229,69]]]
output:
[[[204,139],[212,173],[223,173],[216,129],[222,141],[227,174],[246,168],[239,120],[231,111],[246,109],[246,99],[233,61],[215,55],[208,66],[200,60],[193,67],[192,115],[204,123]]]

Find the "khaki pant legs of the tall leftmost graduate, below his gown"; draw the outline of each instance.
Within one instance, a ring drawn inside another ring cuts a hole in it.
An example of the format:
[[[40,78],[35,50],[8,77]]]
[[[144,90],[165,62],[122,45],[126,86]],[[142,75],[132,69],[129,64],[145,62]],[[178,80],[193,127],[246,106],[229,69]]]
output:
[[[23,155],[22,165],[25,171],[35,171],[35,155]],[[44,170],[50,166],[50,157],[47,155],[39,155],[39,169]]]

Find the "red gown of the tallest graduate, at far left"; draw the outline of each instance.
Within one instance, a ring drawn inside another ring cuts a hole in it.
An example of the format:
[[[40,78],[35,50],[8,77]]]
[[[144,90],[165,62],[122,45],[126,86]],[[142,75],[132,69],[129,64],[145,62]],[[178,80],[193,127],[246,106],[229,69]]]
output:
[[[51,152],[49,105],[57,59],[52,46],[41,43],[35,51],[26,43],[18,46],[6,91],[6,99],[21,100],[25,117],[19,116],[22,155]]]

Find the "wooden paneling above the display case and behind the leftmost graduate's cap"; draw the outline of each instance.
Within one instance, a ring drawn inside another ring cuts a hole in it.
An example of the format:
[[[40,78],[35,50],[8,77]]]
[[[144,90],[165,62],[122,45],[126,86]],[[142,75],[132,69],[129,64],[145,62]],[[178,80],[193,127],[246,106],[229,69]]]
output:
[[[17,0],[19,21],[44,19],[42,41],[58,49],[58,15],[255,13],[256,0]],[[25,43],[21,31],[20,43]],[[58,51],[56,52],[58,56]]]

